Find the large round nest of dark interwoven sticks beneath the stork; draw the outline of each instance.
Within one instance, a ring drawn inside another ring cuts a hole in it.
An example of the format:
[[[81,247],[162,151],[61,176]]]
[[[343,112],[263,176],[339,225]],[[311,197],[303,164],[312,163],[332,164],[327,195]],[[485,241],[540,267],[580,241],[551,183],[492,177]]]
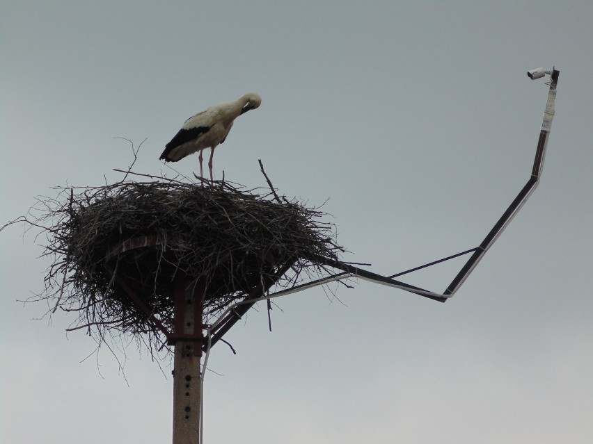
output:
[[[38,198],[35,220],[22,219],[47,233],[45,255],[53,263],[40,297],[54,311],[77,312],[72,329],[86,327],[100,340],[125,333],[150,350],[161,348],[165,338],[155,319],[173,329],[177,278],[205,283],[208,322],[264,279],[281,274],[276,285],[290,288],[303,273],[325,275],[312,258],[338,260],[343,251],[333,225],[321,221],[324,213],[278,197],[273,188],[136,176],[150,180],[59,187],[57,197]]]

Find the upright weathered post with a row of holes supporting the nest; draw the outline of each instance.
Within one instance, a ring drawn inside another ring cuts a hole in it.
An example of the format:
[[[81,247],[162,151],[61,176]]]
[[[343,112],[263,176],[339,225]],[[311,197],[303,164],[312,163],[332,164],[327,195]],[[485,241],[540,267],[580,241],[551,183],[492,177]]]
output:
[[[175,283],[175,345],[173,370],[173,444],[198,444],[202,379],[203,302],[200,281],[179,278]]]

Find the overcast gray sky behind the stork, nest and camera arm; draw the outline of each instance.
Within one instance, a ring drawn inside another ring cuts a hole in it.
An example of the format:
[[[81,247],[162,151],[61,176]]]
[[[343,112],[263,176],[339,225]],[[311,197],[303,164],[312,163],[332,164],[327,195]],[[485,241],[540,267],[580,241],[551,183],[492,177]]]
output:
[[[134,170],[171,174],[187,117],[255,91],[216,176],[265,186],[261,158],[288,197],[329,198],[346,260],[392,274],[482,241],[531,171],[548,87],[525,72],[555,65],[541,185],[457,295],[311,290],[278,300],[271,334],[251,311],[237,356],[210,356],[205,442],[589,442],[593,3],[508,3],[3,1],[1,220],[120,179],[116,136],[148,138]],[[0,233],[0,441],[169,442],[171,368],[132,345],[128,386],[68,315],[15,302],[43,288],[41,240]],[[406,281],[442,291],[460,265]]]

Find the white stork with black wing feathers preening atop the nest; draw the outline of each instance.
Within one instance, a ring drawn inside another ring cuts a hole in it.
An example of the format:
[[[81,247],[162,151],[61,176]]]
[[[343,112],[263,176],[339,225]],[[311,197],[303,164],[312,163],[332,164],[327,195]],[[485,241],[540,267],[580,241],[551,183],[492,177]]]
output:
[[[262,98],[255,92],[248,92],[238,100],[225,102],[208,108],[201,113],[189,117],[171,142],[165,147],[161,159],[165,162],[177,162],[189,154],[200,151],[200,176],[202,171],[202,150],[212,148],[208,167],[210,180],[214,181],[212,174],[212,157],[214,148],[224,142],[232,122],[248,110],[258,108]]]

